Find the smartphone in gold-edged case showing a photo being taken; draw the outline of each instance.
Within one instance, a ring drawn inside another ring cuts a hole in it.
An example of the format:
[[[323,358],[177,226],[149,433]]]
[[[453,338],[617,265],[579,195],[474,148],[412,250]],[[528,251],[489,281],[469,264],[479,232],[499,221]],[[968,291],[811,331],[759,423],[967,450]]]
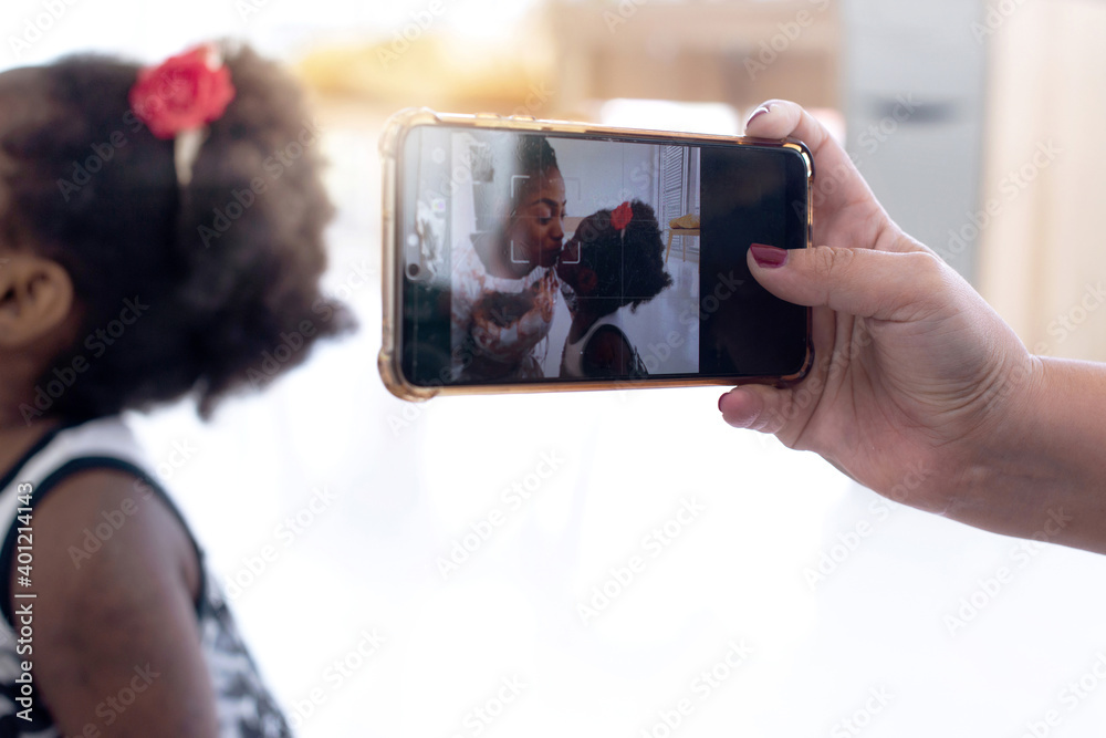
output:
[[[380,150],[399,397],[783,385],[813,363],[810,309],[745,263],[811,247],[802,142],[408,110]]]

